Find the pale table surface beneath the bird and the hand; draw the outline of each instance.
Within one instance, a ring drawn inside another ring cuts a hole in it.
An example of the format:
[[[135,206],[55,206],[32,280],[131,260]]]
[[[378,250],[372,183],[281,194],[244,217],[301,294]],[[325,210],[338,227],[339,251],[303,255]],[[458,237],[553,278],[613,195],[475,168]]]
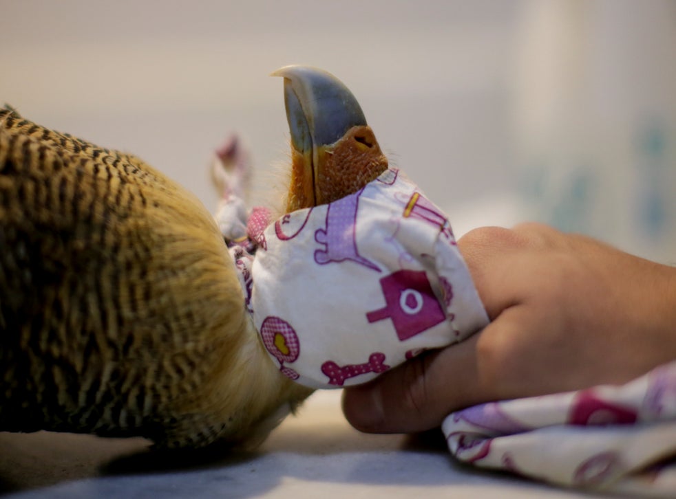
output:
[[[251,454],[151,452],[143,439],[0,433],[0,493],[28,498],[587,497],[454,461],[439,434],[368,435],[317,392]]]

